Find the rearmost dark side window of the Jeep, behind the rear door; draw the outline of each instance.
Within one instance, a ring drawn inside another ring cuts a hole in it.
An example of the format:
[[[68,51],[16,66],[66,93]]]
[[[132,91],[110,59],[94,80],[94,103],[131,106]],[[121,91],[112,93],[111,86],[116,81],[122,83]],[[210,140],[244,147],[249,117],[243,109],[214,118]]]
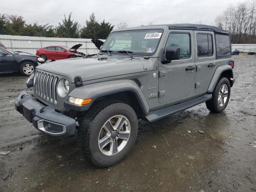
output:
[[[216,50],[217,55],[230,55],[230,39],[227,35],[216,34]]]

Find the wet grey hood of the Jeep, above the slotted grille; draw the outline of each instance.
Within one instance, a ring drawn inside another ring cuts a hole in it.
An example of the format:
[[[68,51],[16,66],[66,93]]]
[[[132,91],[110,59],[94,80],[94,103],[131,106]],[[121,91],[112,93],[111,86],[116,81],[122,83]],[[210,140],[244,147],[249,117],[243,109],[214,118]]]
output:
[[[82,81],[89,81],[125,74],[144,72],[141,60],[138,58],[108,57],[98,60],[98,56],[90,58],[72,58],[58,60],[38,66],[40,70],[66,76],[74,83],[74,78],[80,76]]]

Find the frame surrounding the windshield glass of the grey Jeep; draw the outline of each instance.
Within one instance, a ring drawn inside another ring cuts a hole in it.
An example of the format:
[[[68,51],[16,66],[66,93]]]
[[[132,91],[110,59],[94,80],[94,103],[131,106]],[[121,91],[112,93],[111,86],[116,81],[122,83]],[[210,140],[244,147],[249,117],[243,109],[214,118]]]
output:
[[[130,31],[150,31],[150,30],[159,30],[159,33],[161,32],[162,33],[162,35],[161,35],[161,37],[159,38],[159,41],[158,41],[158,44],[156,45],[156,49],[154,50],[154,52],[152,52],[152,53],[141,53],[141,52],[132,52],[132,53],[130,53],[132,56],[142,56],[142,57],[145,57],[145,56],[153,56],[155,53],[156,53],[156,51],[158,50],[158,46],[159,46],[159,44],[160,44],[160,41],[161,41],[161,39],[162,39],[162,36],[164,35],[164,29],[162,29],[162,28],[152,28],[152,29],[134,29],[134,30],[123,30],[123,31],[114,31],[114,32],[112,32],[112,33],[110,33],[110,35],[108,36],[108,38],[110,38],[110,36],[112,35],[112,34],[114,34],[114,33],[119,33],[119,32],[130,32]],[[105,40],[105,42],[108,40],[108,38]],[[105,44],[105,42],[104,42],[104,44]],[[103,44],[103,46],[102,46],[102,48],[104,47],[104,44]],[[100,48],[100,53],[101,54],[108,54],[107,52],[102,52],[102,48]],[[113,55],[126,55],[126,56],[129,56],[127,53],[120,53],[120,52],[118,52],[118,51],[113,51],[113,50],[108,50],[108,51],[111,51],[111,54],[113,54]],[[125,51],[125,50],[120,50],[120,51]],[[131,50],[128,50],[128,51],[131,51]]]

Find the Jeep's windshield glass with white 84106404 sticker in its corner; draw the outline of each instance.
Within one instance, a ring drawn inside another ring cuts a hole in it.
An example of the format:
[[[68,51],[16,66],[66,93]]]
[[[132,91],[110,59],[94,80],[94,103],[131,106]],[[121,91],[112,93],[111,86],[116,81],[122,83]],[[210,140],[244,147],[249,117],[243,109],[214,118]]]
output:
[[[130,30],[113,32],[108,36],[101,52],[151,56],[156,52],[162,29]]]

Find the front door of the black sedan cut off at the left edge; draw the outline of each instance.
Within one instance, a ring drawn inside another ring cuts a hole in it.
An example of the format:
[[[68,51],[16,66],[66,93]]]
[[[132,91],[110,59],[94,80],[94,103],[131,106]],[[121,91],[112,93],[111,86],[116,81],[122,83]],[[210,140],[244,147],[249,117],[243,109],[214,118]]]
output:
[[[14,57],[0,49],[0,72],[15,71]]]

